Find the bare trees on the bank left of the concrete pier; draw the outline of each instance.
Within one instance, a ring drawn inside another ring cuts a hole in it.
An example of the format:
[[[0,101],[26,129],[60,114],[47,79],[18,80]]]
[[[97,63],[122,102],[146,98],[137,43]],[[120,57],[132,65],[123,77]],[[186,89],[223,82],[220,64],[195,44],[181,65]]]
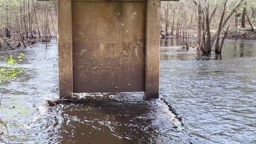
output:
[[[57,35],[56,1],[0,0],[0,47],[15,49]]]

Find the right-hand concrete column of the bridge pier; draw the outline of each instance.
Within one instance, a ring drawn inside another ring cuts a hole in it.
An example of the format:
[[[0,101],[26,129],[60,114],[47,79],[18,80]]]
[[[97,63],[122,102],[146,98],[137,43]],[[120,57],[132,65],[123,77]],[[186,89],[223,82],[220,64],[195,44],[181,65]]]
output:
[[[145,95],[159,98],[160,0],[147,0]]]

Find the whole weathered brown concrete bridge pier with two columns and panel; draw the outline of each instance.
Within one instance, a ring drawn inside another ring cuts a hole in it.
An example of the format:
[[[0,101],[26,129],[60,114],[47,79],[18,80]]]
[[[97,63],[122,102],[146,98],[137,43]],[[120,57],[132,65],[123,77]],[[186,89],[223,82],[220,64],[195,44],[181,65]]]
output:
[[[58,0],[60,98],[145,91],[158,98],[160,0]]]

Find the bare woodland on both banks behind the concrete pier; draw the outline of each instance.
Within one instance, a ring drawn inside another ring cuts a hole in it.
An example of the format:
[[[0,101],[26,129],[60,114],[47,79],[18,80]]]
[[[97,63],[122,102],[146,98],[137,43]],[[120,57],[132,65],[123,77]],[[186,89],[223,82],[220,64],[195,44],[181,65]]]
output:
[[[225,37],[256,37],[255,0],[161,2],[162,37],[196,40],[198,50],[221,53]],[[15,49],[57,35],[56,1],[0,0],[0,47]]]

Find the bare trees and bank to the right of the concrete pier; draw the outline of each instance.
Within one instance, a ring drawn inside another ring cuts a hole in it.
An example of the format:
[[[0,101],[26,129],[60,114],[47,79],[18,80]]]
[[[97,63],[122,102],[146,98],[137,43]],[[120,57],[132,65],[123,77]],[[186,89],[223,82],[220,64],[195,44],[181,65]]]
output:
[[[256,37],[255,0],[180,0],[161,3],[162,37],[196,40],[198,50],[221,53],[224,39]]]

